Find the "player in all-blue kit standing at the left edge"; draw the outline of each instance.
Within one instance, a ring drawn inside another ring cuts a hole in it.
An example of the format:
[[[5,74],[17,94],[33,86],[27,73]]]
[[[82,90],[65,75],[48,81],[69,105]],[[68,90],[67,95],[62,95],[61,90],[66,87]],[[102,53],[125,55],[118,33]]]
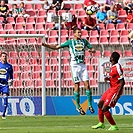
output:
[[[13,84],[13,68],[7,62],[7,53],[1,53],[0,62],[0,93],[3,95],[3,114],[2,119],[5,119],[5,113],[8,105],[9,86]]]

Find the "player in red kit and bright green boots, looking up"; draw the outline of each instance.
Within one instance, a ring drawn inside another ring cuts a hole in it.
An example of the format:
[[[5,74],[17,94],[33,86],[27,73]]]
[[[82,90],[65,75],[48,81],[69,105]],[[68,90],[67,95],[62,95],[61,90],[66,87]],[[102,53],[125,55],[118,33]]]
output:
[[[110,62],[112,67],[110,69],[109,77],[105,77],[105,82],[110,81],[110,88],[108,88],[102,95],[98,103],[98,117],[99,123],[92,126],[93,129],[105,128],[104,116],[111,124],[108,130],[118,130],[118,126],[114,121],[109,109],[114,107],[120,96],[122,95],[123,86],[125,80],[123,77],[123,70],[121,65],[118,63],[120,58],[119,53],[113,52],[110,57]]]

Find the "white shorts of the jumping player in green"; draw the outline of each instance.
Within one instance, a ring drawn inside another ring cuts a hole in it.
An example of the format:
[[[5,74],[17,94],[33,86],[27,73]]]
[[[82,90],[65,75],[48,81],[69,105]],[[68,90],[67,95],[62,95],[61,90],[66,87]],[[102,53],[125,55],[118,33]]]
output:
[[[81,63],[81,64],[71,65],[71,73],[74,83],[89,80],[87,67],[85,64]]]

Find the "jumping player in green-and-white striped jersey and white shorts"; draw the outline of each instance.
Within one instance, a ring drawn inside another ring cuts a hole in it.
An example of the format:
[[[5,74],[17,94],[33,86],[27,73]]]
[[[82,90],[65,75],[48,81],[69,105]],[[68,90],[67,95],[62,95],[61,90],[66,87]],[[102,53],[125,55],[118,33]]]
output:
[[[73,30],[74,38],[66,41],[61,45],[48,45],[46,43],[42,43],[42,46],[51,48],[53,50],[57,50],[64,47],[69,47],[70,55],[71,55],[71,72],[72,79],[74,82],[74,98],[76,101],[76,110],[81,114],[85,115],[85,111],[80,106],[80,93],[79,93],[79,85],[80,82],[84,82],[84,86],[86,88],[86,95],[88,99],[88,109],[91,113],[94,113],[94,109],[92,107],[92,92],[89,85],[89,76],[87,72],[87,67],[84,62],[85,58],[85,48],[88,47],[89,51],[94,53],[95,49],[92,48],[92,45],[86,40],[81,39],[81,29],[74,28]]]

